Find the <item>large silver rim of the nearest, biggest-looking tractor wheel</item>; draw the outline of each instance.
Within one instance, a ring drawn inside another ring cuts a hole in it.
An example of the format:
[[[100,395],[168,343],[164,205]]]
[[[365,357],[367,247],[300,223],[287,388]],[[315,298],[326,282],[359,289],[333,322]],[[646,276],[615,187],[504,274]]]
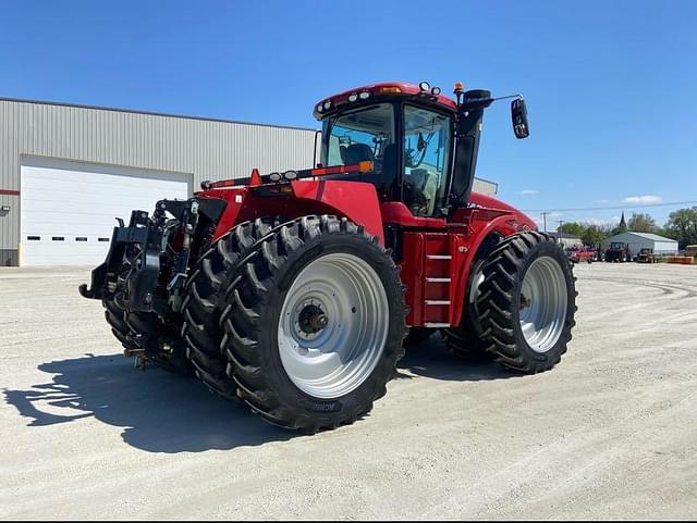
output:
[[[307,395],[339,398],[372,373],[388,328],[388,297],[376,271],[353,254],[326,254],[303,269],[285,296],[281,363]]]

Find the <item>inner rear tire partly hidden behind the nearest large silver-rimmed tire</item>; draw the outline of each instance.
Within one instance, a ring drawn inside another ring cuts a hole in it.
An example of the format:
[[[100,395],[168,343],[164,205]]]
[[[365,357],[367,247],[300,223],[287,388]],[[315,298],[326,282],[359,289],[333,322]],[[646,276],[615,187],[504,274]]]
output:
[[[240,259],[278,223],[274,219],[258,219],[235,226],[200,257],[186,282],[182,304],[186,356],[198,378],[211,391],[228,399],[236,398],[237,387],[225,373],[228,360],[220,350],[223,337],[220,298],[236,276]]]

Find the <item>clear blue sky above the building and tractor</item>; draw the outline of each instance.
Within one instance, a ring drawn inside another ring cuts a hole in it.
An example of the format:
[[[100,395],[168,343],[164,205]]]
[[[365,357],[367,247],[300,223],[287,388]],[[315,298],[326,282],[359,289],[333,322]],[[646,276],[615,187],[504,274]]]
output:
[[[315,127],[339,90],[461,79],[527,99],[527,140],[508,103],[486,116],[478,175],[502,199],[662,224],[674,207],[637,206],[697,200],[696,23],[689,0],[0,0],[0,96]]]

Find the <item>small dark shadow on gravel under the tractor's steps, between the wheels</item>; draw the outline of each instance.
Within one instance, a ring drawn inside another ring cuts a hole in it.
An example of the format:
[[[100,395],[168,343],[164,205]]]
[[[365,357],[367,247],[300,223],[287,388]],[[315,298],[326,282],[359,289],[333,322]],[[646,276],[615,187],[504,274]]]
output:
[[[440,334],[433,334],[426,341],[408,347],[404,358],[398,363],[398,379],[411,379],[415,376],[449,382],[480,382],[511,379],[521,375],[506,371],[486,357],[465,359],[454,356]]]

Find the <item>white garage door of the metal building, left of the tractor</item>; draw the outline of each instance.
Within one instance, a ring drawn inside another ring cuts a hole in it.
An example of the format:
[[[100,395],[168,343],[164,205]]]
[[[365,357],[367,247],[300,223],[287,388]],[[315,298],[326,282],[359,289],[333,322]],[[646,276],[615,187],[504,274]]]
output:
[[[115,216],[152,212],[162,198],[186,199],[191,175],[23,159],[22,265],[97,265],[109,250]]]

